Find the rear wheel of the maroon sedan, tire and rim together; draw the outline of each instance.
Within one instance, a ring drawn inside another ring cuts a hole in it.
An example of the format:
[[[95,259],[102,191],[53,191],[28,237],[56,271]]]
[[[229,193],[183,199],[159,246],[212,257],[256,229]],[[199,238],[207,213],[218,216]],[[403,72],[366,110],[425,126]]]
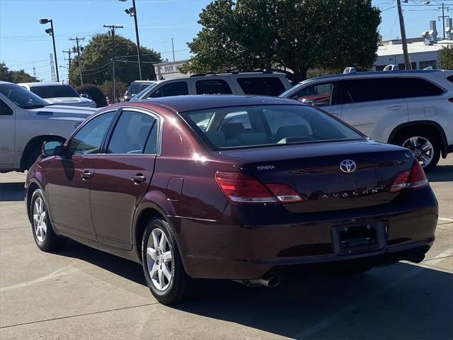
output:
[[[156,218],[148,222],[142,239],[142,265],[149,290],[156,300],[164,305],[183,300],[190,278],[166,221]]]

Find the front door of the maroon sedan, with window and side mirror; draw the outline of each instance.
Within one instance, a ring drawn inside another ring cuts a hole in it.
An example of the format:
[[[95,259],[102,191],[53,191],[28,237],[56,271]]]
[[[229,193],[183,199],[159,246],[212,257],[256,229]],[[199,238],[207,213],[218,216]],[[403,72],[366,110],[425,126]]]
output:
[[[67,152],[55,157],[46,168],[47,206],[56,229],[96,240],[91,218],[90,188],[96,159],[115,111],[103,113],[86,123],[69,140]]]

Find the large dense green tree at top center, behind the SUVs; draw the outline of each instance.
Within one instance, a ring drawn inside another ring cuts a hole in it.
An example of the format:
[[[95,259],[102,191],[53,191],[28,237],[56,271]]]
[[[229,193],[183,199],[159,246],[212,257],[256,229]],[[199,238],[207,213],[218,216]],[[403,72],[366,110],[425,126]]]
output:
[[[300,81],[309,68],[371,67],[380,22],[371,0],[215,0],[182,71],[277,68]]]

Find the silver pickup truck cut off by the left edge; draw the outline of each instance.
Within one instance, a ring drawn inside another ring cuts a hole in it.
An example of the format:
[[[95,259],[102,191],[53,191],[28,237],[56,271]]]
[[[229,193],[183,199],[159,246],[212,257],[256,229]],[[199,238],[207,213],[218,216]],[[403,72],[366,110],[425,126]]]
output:
[[[0,81],[0,172],[25,171],[42,142],[64,142],[94,108],[54,106],[22,86]]]

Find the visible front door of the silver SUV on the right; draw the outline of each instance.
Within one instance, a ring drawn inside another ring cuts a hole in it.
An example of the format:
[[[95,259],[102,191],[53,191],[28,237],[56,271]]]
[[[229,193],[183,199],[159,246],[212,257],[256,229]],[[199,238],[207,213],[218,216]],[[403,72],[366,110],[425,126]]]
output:
[[[323,81],[304,86],[289,98],[302,103],[311,104],[336,115],[341,115],[341,83],[340,81]]]

